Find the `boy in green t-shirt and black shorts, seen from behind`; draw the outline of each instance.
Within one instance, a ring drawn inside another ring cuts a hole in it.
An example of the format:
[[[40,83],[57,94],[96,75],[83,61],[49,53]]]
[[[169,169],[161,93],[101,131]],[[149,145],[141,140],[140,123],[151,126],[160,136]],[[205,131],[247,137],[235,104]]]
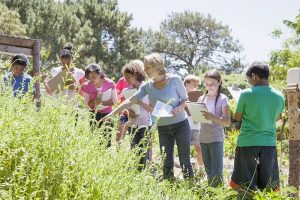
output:
[[[230,186],[277,190],[276,119],[284,110],[284,97],[269,85],[266,63],[252,63],[246,76],[252,87],[242,92],[236,108],[235,119],[242,124]]]

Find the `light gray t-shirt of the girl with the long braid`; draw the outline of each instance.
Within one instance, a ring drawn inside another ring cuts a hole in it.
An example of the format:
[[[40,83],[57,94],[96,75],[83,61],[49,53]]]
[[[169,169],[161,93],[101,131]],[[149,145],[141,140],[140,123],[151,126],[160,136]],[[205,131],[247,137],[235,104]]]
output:
[[[223,116],[223,107],[229,106],[229,99],[226,95],[220,94],[217,104],[215,106],[215,99],[200,97],[200,101],[204,102],[208,112],[217,115],[218,117]],[[212,143],[224,141],[224,127],[220,124],[212,122],[212,124],[201,123],[200,128],[200,142]]]

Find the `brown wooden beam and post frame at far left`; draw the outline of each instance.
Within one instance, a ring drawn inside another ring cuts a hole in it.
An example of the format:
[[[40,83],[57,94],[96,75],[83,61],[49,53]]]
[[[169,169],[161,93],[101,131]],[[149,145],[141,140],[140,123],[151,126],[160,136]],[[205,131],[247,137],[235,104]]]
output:
[[[19,37],[11,37],[0,35],[0,53],[4,54],[18,54],[23,53],[33,59],[33,74],[37,76],[40,74],[40,50],[41,40],[27,39]],[[36,88],[36,104],[37,107],[41,106],[40,102],[40,82],[37,80],[35,83]]]

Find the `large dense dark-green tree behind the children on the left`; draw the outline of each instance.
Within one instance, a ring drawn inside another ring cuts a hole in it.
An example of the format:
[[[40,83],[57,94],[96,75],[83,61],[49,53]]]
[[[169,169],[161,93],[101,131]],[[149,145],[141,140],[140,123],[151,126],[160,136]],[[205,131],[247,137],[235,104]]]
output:
[[[102,63],[105,72],[119,76],[126,62],[140,58],[141,30],[130,27],[132,15],[121,12],[115,0],[7,0],[27,25],[26,35],[43,40],[49,59],[57,62],[67,42],[80,50],[78,67]],[[79,48],[81,47],[81,48]]]

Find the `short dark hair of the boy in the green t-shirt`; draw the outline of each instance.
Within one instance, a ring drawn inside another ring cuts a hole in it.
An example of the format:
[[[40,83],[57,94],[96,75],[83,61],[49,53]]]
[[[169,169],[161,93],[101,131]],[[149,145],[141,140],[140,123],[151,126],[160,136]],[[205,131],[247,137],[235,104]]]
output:
[[[253,62],[247,69],[246,76],[251,77],[251,74],[256,74],[261,79],[269,79],[269,66],[265,62]]]

